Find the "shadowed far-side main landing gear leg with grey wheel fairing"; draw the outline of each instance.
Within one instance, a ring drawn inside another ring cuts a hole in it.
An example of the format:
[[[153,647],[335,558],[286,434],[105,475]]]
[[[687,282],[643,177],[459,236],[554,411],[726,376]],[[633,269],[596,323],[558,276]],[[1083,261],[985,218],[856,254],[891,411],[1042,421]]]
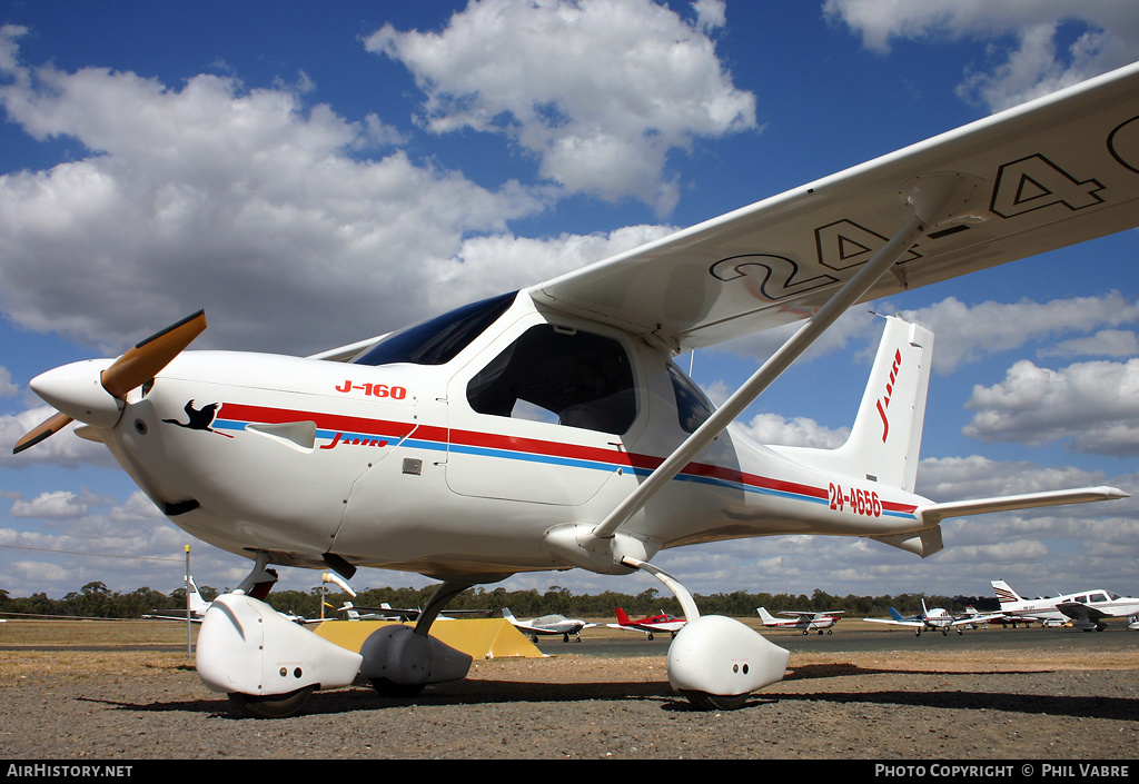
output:
[[[408,697],[427,684],[462,680],[472,658],[428,636],[432,623],[457,594],[475,582],[444,582],[435,589],[416,627],[385,626],[368,636],[360,647],[360,673],[383,696]]]

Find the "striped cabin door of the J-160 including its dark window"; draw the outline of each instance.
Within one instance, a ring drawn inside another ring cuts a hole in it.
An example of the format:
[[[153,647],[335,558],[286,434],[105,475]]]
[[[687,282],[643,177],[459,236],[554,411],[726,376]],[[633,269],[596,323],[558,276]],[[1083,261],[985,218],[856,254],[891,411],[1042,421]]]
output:
[[[580,505],[628,472],[645,427],[624,335],[531,313],[450,381],[446,483],[464,496]]]

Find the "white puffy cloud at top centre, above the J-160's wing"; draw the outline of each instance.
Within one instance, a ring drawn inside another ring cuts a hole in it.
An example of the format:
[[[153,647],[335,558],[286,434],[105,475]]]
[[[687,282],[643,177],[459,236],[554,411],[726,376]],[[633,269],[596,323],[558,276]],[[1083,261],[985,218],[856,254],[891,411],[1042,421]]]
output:
[[[756,128],[754,96],[710,38],[724,3],[694,8],[687,21],[649,0],[480,0],[440,32],[388,24],[366,46],[415,74],[432,131],[506,133],[568,193],[666,214],[679,198],[670,152]]]

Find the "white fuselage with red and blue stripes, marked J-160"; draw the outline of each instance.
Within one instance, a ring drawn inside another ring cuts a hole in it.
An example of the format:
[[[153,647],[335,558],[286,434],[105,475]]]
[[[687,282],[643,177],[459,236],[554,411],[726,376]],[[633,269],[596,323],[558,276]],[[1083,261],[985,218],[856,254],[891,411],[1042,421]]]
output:
[[[600,522],[711,405],[666,346],[526,296],[478,305],[350,362],[183,352],[100,436],[175,524],[233,553],[440,578],[568,567],[546,532]],[[880,536],[920,529],[924,503],[729,428],[623,531],[649,556]]]

